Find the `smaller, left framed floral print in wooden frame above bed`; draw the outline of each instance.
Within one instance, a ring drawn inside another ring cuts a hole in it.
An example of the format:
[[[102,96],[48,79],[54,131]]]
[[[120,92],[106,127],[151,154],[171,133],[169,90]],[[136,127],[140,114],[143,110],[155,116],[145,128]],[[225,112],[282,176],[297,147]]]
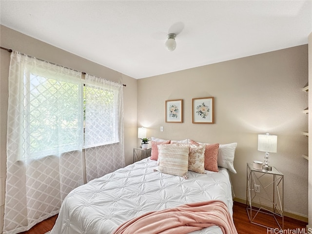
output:
[[[183,122],[183,100],[166,101],[166,122],[182,123]]]

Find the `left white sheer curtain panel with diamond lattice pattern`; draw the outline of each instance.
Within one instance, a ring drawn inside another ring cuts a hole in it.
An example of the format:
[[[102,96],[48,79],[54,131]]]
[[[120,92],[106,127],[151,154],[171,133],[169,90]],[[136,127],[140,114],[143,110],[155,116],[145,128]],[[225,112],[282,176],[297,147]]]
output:
[[[3,234],[55,215],[83,183],[81,73],[11,54]]]

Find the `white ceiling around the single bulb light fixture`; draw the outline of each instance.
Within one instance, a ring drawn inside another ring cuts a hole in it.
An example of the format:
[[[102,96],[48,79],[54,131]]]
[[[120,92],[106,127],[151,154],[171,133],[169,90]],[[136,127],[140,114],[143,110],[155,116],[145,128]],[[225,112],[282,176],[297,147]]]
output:
[[[0,23],[138,79],[307,44],[312,0],[0,0]]]

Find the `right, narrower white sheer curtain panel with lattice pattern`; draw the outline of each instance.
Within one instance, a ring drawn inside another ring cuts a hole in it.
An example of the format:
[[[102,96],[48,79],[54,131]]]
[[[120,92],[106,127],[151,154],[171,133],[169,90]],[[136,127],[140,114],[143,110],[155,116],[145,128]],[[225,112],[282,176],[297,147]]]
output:
[[[122,84],[86,74],[87,182],[125,166]]]

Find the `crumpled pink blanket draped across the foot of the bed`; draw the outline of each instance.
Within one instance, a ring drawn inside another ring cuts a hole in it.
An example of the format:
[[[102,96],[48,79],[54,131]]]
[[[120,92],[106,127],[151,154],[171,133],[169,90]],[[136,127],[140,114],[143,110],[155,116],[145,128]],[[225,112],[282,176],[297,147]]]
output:
[[[121,224],[113,234],[187,234],[213,225],[223,234],[237,234],[227,206],[218,200],[149,212]]]

